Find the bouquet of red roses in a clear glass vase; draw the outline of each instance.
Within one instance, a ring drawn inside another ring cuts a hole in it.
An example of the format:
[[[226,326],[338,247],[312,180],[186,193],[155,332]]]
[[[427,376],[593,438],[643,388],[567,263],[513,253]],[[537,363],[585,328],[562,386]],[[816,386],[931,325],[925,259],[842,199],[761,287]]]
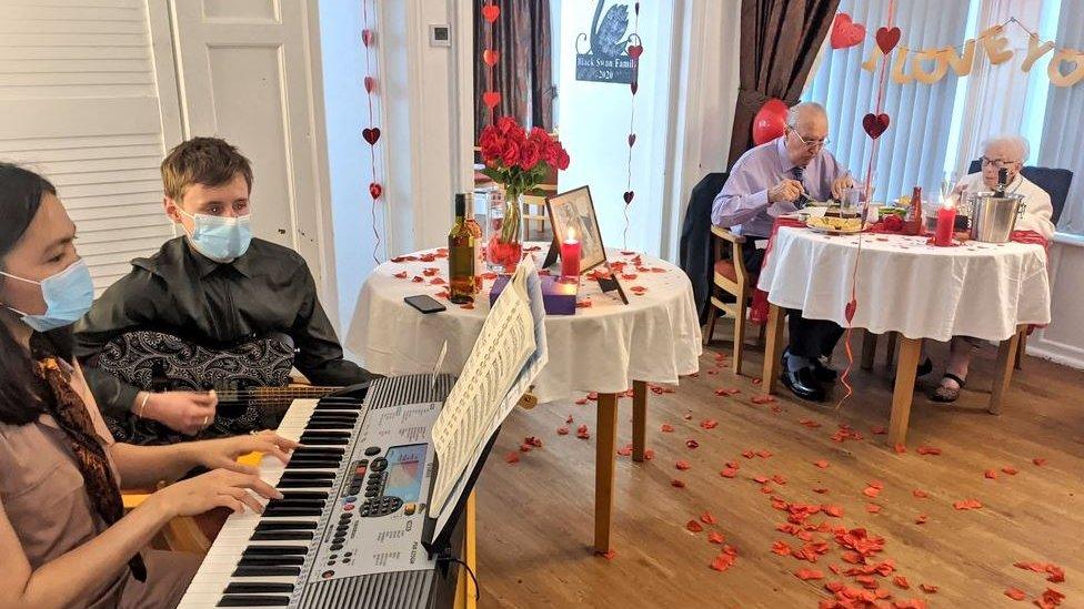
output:
[[[538,187],[552,170],[568,169],[569,153],[544,129],[528,133],[510,116],[483,129],[479,145],[485,163],[482,173],[504,186],[504,222],[489,244],[489,260],[511,271],[522,253],[520,195]]]

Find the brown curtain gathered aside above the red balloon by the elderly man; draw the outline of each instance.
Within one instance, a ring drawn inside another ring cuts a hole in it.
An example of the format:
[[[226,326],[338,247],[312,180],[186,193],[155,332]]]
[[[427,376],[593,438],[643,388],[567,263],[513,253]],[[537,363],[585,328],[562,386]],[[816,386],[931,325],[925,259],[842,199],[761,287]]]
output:
[[[727,166],[753,148],[753,116],[765,101],[797,103],[839,6],[840,0],[742,0],[740,87]]]

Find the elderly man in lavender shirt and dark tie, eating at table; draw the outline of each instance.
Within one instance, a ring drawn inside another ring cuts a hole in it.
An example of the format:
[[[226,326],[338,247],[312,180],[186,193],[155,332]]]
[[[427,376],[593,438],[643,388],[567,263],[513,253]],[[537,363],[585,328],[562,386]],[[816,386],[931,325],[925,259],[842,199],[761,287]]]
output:
[[[824,150],[827,134],[829,119],[821,104],[795,105],[787,113],[783,135],[743,154],[715,197],[712,222],[745,237],[743,257],[751,272],[760,271],[776,216],[811,200],[840,199],[844,189],[854,186],[850,172]],[[787,313],[783,384],[803,399],[823,400],[821,384],[836,375],[822,358],[835,348],[843,329],[834,322],[806,319],[800,311]]]

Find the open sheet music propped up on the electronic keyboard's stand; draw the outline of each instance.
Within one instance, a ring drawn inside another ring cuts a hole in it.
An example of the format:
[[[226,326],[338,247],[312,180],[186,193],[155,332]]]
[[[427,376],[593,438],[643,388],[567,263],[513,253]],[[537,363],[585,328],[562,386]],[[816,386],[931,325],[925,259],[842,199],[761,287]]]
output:
[[[490,309],[459,380],[433,425],[439,468],[430,514],[438,530],[481,458],[493,432],[508,417],[548,361],[542,281],[533,257],[520,263]],[[441,518],[441,517],[444,518]]]

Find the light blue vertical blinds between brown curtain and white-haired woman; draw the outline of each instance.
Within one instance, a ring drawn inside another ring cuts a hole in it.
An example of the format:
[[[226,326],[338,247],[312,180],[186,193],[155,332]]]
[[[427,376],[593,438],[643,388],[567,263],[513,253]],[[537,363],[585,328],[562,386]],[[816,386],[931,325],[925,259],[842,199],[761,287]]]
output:
[[[962,44],[968,4],[944,0],[897,2],[895,24],[902,32],[900,44],[913,49]],[[832,140],[829,149],[861,181],[873,144],[862,130],[862,116],[874,108],[877,82],[877,71],[865,71],[861,64],[876,44],[874,32],[887,20],[889,2],[842,0],[840,11],[864,24],[866,38],[862,44],[850,49],[826,49],[803,100],[820,102],[827,109]],[[894,61],[897,52],[893,52]],[[976,55],[980,52],[976,49]],[[912,55],[909,53],[907,57],[907,73],[911,72]],[[884,112],[891,116],[891,125],[881,136],[881,151],[874,168],[875,200],[910,194],[916,184],[936,195],[944,177],[956,83],[951,70],[934,85],[897,84],[889,79]]]

